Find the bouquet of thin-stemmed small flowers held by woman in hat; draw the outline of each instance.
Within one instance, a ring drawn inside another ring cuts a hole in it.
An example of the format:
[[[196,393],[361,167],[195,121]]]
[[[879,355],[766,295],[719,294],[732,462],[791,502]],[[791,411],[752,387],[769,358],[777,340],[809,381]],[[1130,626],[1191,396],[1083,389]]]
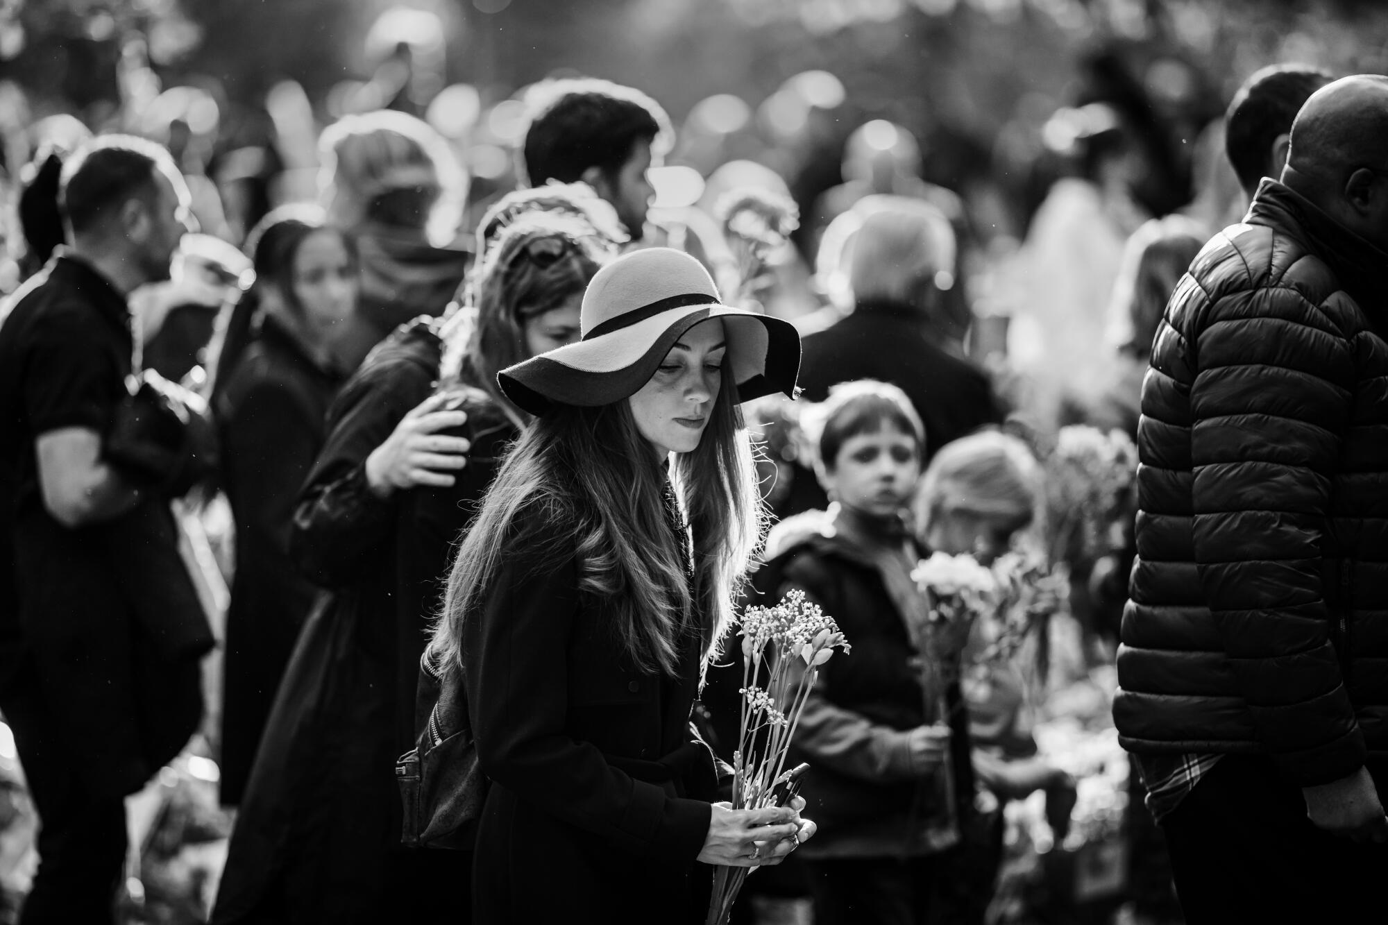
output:
[[[788,776],[799,714],[820,665],[834,650],[848,653],[838,624],[793,590],[775,607],[748,607],[743,615],[743,714],[733,753],[733,808],[775,806],[776,785]],[[706,925],[723,925],[747,878],[745,867],[719,865]]]

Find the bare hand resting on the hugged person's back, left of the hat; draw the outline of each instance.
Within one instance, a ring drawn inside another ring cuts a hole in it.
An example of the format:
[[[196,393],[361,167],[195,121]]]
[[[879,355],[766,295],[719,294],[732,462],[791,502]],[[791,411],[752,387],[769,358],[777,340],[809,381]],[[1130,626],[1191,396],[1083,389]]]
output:
[[[366,457],[366,483],[376,497],[390,497],[397,490],[416,485],[450,488],[455,472],[468,464],[472,443],[464,438],[439,433],[462,426],[466,411],[451,411],[457,396],[432,394],[401,418],[386,442]]]

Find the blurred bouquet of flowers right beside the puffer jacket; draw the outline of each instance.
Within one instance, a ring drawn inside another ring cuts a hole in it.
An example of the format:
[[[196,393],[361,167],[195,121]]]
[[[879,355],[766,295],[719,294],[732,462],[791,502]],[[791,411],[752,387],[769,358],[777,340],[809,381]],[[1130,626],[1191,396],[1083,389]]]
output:
[[[1122,431],[1060,428],[1045,461],[1047,533],[1052,562],[1094,562],[1117,544],[1115,526],[1131,506],[1137,447]]]

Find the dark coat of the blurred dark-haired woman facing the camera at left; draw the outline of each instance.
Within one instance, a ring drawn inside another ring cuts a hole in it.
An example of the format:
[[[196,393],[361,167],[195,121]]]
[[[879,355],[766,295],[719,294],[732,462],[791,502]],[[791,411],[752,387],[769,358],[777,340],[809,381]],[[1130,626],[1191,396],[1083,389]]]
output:
[[[289,560],[298,489],[323,444],[341,376],[273,318],[229,371],[214,408],[222,485],[236,519],[236,576],[226,614],[222,803],[240,801],[275,690],[319,589]]]

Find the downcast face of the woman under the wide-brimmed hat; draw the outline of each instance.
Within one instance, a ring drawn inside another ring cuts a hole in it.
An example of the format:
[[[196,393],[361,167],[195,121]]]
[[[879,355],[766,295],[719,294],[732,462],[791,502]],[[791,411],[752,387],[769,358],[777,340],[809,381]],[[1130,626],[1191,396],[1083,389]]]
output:
[[[722,321],[694,325],[675,342],[650,382],[629,399],[636,429],[662,458],[698,447],[723,383],[726,346]]]

